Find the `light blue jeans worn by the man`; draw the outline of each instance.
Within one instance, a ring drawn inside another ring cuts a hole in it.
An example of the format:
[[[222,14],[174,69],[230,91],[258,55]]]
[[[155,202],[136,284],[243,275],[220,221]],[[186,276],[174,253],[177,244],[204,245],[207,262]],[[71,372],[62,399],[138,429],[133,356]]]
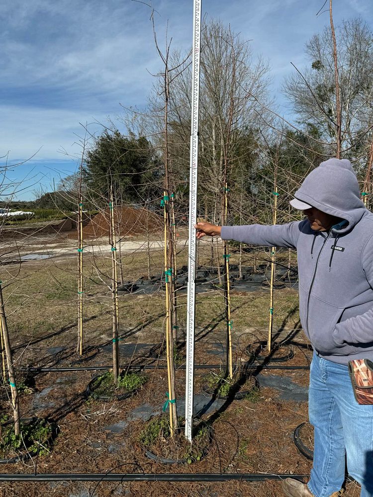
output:
[[[310,492],[329,497],[341,489],[347,454],[360,496],[373,497],[373,405],[356,402],[347,366],[313,354],[308,413],[315,433]]]

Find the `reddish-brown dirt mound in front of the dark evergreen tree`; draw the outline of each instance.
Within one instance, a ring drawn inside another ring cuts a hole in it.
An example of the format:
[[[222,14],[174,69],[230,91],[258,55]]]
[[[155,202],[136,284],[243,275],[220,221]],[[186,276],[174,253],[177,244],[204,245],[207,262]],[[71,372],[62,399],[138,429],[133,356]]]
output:
[[[116,234],[146,235],[163,228],[163,219],[145,208],[114,207],[114,224]],[[107,237],[110,230],[109,209],[96,214],[83,228],[83,238]]]

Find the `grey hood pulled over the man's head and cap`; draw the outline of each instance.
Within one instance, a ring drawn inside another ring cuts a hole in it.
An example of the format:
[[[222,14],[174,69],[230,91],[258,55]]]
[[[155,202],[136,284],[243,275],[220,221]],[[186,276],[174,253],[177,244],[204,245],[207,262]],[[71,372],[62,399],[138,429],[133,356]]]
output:
[[[294,197],[322,212],[348,221],[334,230],[349,231],[360,221],[365,205],[360,198],[358,178],[347,159],[328,159],[305,177]]]

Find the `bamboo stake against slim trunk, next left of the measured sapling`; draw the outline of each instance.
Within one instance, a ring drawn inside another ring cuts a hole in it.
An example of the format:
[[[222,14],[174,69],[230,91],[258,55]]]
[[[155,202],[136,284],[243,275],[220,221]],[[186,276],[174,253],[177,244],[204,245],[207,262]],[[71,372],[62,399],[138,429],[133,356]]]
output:
[[[118,334],[119,306],[118,306],[118,275],[117,275],[112,187],[110,188],[109,216],[110,216],[110,238],[111,238],[110,245],[111,245],[111,299],[112,299],[112,322],[113,322],[112,326],[113,378],[114,378],[114,383],[116,384],[118,382],[118,376],[119,376],[119,334]]]

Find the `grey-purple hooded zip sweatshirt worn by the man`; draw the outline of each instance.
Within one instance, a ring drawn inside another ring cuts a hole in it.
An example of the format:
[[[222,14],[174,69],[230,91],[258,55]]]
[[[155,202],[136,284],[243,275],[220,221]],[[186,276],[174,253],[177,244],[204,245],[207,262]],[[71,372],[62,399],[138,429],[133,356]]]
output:
[[[345,220],[329,233],[309,221],[223,226],[221,238],[296,248],[300,321],[321,357],[347,364],[373,360],[373,214],[360,199],[350,161],[329,159],[304,179],[295,197]]]

